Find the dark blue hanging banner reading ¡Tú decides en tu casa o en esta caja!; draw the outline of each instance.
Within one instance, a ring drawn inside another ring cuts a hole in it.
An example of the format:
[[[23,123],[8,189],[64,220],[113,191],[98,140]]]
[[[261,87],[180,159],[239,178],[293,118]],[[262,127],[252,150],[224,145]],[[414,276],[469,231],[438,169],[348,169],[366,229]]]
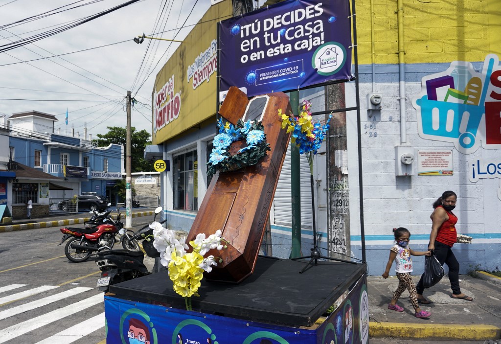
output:
[[[219,25],[220,100],[351,80],[348,1],[288,0]]]

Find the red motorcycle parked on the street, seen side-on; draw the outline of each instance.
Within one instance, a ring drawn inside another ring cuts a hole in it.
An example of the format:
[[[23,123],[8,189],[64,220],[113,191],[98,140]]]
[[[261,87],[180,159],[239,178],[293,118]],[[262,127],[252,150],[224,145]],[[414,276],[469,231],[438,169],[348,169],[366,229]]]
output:
[[[117,209],[117,212],[119,211],[120,208]],[[134,232],[124,228],[121,221],[122,214],[119,213],[117,219],[113,220],[110,213],[111,211],[95,214],[96,219],[101,219],[102,222],[86,221],[85,228],[64,227],[60,229],[64,235],[58,246],[72,238],[64,250],[69,260],[76,263],[83,262],[100,247],[112,248],[117,241],[117,233],[120,234],[120,241],[125,249],[140,250],[138,242],[133,239]]]

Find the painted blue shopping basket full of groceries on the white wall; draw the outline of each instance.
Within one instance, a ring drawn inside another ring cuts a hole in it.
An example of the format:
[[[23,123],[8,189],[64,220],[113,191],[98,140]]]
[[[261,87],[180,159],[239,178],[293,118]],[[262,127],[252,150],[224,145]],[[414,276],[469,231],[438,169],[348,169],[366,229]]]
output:
[[[501,66],[485,57],[481,73],[469,62],[454,61],[441,73],[421,80],[422,92],[412,104],[419,136],[452,142],[463,153],[501,148]]]

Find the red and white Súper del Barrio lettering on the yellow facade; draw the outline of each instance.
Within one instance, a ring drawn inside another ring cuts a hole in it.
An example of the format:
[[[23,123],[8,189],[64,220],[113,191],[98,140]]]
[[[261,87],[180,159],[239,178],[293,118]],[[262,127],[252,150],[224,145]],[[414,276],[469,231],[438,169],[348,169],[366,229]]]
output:
[[[174,93],[174,90],[174,76],[159,91],[155,89],[153,135],[179,117],[179,112],[181,111],[181,92]]]

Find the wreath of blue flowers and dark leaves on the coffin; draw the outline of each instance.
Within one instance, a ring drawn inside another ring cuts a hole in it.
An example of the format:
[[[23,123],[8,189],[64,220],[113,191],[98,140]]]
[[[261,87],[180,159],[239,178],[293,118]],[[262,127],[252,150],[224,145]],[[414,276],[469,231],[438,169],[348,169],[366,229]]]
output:
[[[238,120],[236,125],[229,122],[223,124],[221,118],[217,120],[219,134],[212,140],[212,153],[207,163],[209,176],[220,172],[233,172],[246,166],[256,165],[270,150],[266,141],[266,134],[261,122],[250,123]],[[245,140],[247,146],[239,149],[236,154],[230,155],[230,145],[239,140]]]

